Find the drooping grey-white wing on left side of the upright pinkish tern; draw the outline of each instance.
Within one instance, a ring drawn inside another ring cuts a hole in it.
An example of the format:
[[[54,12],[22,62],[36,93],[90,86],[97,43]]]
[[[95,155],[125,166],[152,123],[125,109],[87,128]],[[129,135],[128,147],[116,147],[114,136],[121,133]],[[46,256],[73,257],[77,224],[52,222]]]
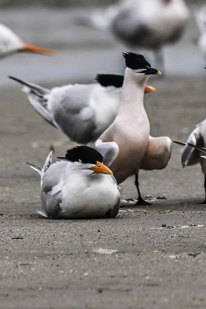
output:
[[[116,142],[102,142],[101,138],[92,145],[92,148],[95,148],[103,155],[103,163],[108,167],[119,153],[119,146]]]

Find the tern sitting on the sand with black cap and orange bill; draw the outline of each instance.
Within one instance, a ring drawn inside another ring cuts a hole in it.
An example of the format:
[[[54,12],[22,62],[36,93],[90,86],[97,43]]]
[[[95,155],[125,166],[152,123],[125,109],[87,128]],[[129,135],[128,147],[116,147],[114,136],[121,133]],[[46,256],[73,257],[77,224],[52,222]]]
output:
[[[31,166],[41,176],[43,212],[38,213],[56,219],[111,218],[118,214],[120,188],[97,150],[76,146],[58,159],[61,161],[51,163],[51,151],[43,168]]]

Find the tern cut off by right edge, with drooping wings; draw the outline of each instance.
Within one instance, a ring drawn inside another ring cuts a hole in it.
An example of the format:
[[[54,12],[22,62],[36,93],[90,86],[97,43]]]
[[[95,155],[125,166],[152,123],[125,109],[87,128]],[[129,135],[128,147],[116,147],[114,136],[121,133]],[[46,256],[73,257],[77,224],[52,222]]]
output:
[[[174,143],[184,146],[182,153],[182,166],[191,166],[200,163],[202,173],[204,174],[204,188],[205,188],[205,200],[202,204],[206,204],[206,160],[202,158],[202,152],[200,147],[206,146],[206,119],[196,125],[196,128],[187,138],[187,142]],[[195,147],[197,146],[197,147]]]

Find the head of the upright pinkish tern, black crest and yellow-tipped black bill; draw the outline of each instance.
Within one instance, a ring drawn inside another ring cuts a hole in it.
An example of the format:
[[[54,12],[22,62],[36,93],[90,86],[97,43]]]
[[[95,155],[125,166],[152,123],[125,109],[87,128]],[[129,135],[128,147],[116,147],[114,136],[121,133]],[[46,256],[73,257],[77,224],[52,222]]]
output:
[[[159,70],[151,67],[151,64],[141,54],[123,53],[125,65],[132,69],[135,73],[143,73],[145,75],[162,74]]]

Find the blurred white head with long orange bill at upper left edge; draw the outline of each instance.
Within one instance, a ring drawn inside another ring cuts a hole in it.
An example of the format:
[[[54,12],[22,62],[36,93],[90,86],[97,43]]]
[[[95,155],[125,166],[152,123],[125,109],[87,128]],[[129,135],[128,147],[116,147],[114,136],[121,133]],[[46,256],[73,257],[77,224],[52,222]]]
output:
[[[32,52],[45,55],[56,55],[55,52],[42,49],[23,42],[11,29],[0,24],[0,58],[16,52]]]

